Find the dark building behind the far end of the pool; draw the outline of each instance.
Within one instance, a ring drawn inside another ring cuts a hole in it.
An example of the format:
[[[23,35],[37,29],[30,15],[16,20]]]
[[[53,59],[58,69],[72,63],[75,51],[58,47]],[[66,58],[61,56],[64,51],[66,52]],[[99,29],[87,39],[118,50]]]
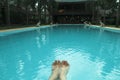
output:
[[[78,24],[93,22],[97,16],[95,1],[58,2],[58,9],[53,13],[53,22]]]

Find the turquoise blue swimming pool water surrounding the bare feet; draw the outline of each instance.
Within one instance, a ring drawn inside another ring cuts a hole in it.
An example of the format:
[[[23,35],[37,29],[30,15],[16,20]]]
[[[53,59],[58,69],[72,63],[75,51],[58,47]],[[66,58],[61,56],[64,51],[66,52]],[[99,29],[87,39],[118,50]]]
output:
[[[0,80],[48,80],[54,60],[67,60],[67,80],[120,80],[120,33],[56,25],[0,33]]]

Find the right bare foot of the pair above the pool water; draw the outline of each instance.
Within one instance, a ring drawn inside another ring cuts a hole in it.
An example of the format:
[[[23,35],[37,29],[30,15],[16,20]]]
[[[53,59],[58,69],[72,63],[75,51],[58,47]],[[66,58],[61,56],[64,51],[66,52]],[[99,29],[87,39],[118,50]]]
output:
[[[60,73],[60,79],[61,80],[66,80],[66,75],[69,70],[69,64],[67,61],[62,61],[61,63],[61,73]]]

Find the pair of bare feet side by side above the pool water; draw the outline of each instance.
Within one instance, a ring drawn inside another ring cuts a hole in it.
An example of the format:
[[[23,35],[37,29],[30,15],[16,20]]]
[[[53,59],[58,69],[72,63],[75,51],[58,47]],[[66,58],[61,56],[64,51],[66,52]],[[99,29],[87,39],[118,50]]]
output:
[[[66,75],[69,69],[69,64],[67,61],[60,62],[56,60],[52,64],[52,74],[49,80],[66,80]]]

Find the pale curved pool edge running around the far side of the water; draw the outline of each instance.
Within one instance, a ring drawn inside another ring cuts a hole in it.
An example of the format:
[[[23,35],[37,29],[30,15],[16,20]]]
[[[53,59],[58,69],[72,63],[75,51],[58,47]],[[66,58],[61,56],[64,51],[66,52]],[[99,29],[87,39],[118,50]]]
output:
[[[111,31],[111,32],[117,32],[120,33],[120,28],[113,28],[113,27],[101,27],[98,25],[85,25],[85,24],[52,24],[52,25],[43,25],[43,26],[38,26],[38,27],[27,27],[27,28],[16,28],[16,29],[8,29],[8,30],[1,30],[0,31],[0,36],[5,36],[5,35],[10,35],[14,33],[20,33],[24,31],[32,31],[32,30],[37,30],[40,28],[46,28],[46,27],[53,27],[53,26],[58,26],[58,25],[83,25],[87,26],[89,28],[98,28],[106,31]]]

